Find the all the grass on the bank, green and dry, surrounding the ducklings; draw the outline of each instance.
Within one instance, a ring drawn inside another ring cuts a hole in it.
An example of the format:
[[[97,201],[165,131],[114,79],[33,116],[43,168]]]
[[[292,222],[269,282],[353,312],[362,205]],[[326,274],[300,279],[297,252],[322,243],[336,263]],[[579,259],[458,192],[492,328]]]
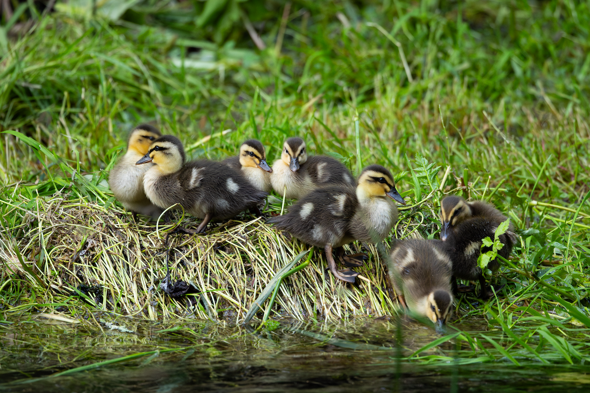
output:
[[[0,31],[0,127],[18,131],[0,137],[5,321],[107,311],[240,323],[307,250],[248,215],[208,236],[175,235],[172,277],[199,293],[164,296],[164,239],[177,222],[133,223],[106,185],[125,134],[151,122],[193,158],[227,157],[255,137],[273,161],[299,135],[353,172],[383,164],[409,201],[398,239],[437,237],[444,194],[489,200],[520,243],[493,278],[507,284],[499,298],[455,303],[451,328],[483,319],[487,332],[461,329],[454,340],[468,346],[466,359],[588,359],[587,2],[293,2],[286,19],[254,23],[261,50],[240,26],[218,44],[191,35],[178,6],[132,9],[145,24],[56,12],[18,37]],[[281,204],[271,197],[267,211]],[[358,287],[327,275],[316,250],[255,321],[395,315],[384,264],[367,248]],[[438,359],[429,356],[408,359]]]

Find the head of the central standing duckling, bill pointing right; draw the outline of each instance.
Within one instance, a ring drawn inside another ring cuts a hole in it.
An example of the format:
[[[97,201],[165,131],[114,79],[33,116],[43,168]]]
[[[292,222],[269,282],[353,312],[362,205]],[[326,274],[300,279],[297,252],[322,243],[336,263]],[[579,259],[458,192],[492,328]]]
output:
[[[395,189],[394,177],[391,176],[391,172],[381,165],[370,165],[363,169],[359,176],[359,184],[356,186],[356,197],[359,201],[385,196],[405,204],[404,198]]]

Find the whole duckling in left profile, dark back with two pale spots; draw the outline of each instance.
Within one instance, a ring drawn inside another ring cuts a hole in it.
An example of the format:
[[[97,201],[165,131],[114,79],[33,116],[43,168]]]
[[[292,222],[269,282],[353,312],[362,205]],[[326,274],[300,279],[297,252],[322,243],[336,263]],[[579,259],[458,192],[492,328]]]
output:
[[[156,206],[167,209],[179,203],[186,212],[203,219],[196,233],[204,233],[210,220],[230,219],[268,195],[225,164],[196,160],[183,165],[184,161],[181,141],[165,135],[136,164],[153,163],[143,176],[143,188]]]

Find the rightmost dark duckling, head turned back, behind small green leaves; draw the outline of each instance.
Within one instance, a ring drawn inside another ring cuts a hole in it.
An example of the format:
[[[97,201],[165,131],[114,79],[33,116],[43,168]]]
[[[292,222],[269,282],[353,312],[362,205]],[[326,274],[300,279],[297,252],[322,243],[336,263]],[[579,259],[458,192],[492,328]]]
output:
[[[479,280],[481,286],[481,299],[493,296],[490,288],[486,286],[481,268],[477,265],[480,256],[481,239],[490,237],[494,239],[494,233],[500,223],[507,217],[500,213],[496,207],[483,201],[466,202],[460,196],[447,196],[441,201],[441,240],[444,248],[453,260],[453,289],[457,291],[456,279]],[[512,223],[503,235],[500,242],[504,244],[498,254],[507,258],[512,252],[513,245],[517,242]],[[484,248],[484,252],[488,249]],[[497,260],[492,260],[487,265],[496,272],[500,267]]]

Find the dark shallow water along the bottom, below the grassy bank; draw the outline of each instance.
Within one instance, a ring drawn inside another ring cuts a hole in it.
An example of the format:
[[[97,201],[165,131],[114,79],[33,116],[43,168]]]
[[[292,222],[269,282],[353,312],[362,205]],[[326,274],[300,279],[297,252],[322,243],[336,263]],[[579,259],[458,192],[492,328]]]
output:
[[[454,340],[410,357],[440,338],[415,322],[282,322],[272,332],[198,322],[182,328],[123,319],[114,323],[132,333],[109,330],[104,323],[101,331],[35,318],[1,325],[0,391],[590,391],[590,366],[583,364],[542,365],[522,356],[521,366],[515,366],[485,351],[465,356],[465,344]]]

